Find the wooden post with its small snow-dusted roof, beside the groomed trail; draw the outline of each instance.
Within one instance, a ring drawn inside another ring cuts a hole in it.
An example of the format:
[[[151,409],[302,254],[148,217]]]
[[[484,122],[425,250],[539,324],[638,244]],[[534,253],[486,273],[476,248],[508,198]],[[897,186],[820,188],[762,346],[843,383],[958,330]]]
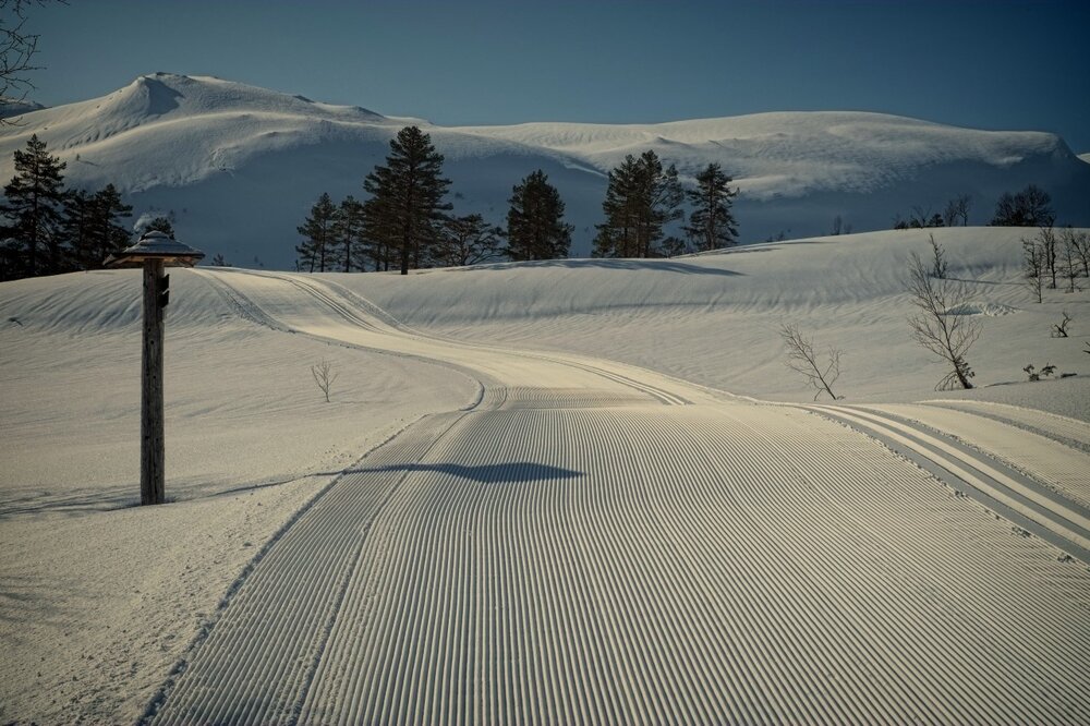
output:
[[[106,258],[107,267],[144,268],[144,352],[141,370],[140,503],[164,501],[162,313],[170,300],[165,267],[192,267],[204,253],[165,232],[145,232],[140,241]]]

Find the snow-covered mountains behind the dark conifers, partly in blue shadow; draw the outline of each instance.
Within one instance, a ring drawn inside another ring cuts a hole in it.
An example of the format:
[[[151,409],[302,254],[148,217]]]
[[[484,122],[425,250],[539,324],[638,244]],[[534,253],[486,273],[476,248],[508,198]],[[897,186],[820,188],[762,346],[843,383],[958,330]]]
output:
[[[958,129],[861,112],[792,112],[605,125],[528,123],[443,128],[360,107],[207,76],[155,73],[108,96],[25,113],[0,129],[0,178],[38,134],[68,164],[70,186],[112,182],[135,219],[173,213],[179,237],[209,258],[291,268],[295,227],[322,192],[363,196],[362,180],[401,126],[431,134],[446,156],[460,214],[502,222],[513,184],[543,169],[576,226],[572,256],[590,251],[606,172],[653,148],[683,178],[716,161],[742,194],[744,242],[827,233],[839,216],[856,231],[887,229],[919,206],[940,211],[972,195],[986,222],[1004,191],[1047,190],[1059,221],[1090,225],[1090,167],[1059,137]]]

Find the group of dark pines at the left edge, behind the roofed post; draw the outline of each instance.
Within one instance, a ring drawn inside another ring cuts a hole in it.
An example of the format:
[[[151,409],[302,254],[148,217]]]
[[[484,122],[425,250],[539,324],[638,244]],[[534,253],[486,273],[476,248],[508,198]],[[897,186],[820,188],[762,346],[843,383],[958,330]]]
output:
[[[65,165],[37,134],[15,152],[15,176],[0,204],[0,280],[102,266],[125,247],[132,216],[113,184],[98,192],[65,190]]]

